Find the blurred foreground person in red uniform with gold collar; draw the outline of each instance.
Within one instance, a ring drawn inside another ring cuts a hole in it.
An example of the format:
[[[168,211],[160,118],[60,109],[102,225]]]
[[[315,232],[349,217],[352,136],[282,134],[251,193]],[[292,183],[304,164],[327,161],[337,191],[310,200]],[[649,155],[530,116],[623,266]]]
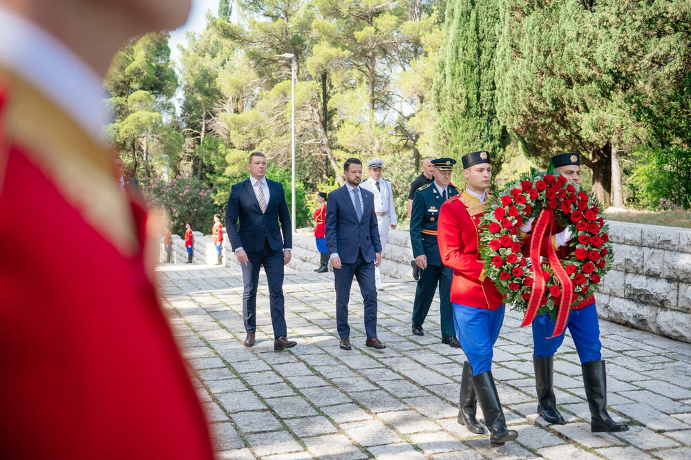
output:
[[[162,227],[102,138],[115,52],[188,11],[0,0],[0,459],[213,458],[153,284]],[[34,215],[50,238],[15,238]]]

